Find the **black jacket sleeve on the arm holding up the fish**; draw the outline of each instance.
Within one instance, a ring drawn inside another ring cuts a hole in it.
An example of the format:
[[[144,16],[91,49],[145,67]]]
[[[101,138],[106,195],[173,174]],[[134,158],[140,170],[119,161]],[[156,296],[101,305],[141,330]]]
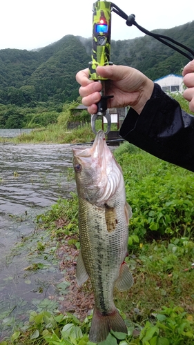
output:
[[[151,155],[194,172],[194,117],[157,83],[140,115],[130,108],[119,134]]]

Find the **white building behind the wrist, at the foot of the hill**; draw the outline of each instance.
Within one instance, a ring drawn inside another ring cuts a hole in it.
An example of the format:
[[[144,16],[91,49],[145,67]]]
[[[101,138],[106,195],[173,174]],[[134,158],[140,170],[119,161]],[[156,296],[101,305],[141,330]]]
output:
[[[154,80],[161,86],[164,92],[183,92],[184,83],[182,75],[165,75],[162,78]]]

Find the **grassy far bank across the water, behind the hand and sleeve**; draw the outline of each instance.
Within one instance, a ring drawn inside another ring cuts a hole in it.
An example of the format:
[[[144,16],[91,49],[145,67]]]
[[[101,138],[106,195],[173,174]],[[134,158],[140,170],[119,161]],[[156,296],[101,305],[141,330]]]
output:
[[[175,98],[179,103],[183,110],[190,113],[188,107],[188,101],[183,98],[183,96],[179,93],[171,94],[171,97]],[[68,121],[75,121],[75,116],[72,116],[72,113],[70,112],[70,109],[72,109],[75,106],[75,102],[72,103],[65,103],[63,112],[52,115],[55,115],[56,123],[53,124],[52,117],[50,118],[50,113],[44,113],[42,115],[40,113],[40,117],[43,116],[45,119],[48,119],[48,121],[40,122],[37,121],[37,128],[35,127],[35,123],[33,123],[33,130],[32,132],[22,135],[19,135],[16,138],[5,138],[0,137],[1,143],[6,142],[13,142],[14,144],[38,144],[38,143],[49,143],[49,144],[77,144],[77,143],[84,143],[91,141],[95,138],[95,134],[91,130],[90,125],[90,117],[88,119],[88,115],[86,110],[84,110],[81,115],[77,116],[76,119],[79,121],[88,121],[88,124],[84,127],[80,126],[78,128],[75,128],[74,130],[68,130],[67,124]],[[37,115],[37,120],[39,119]],[[49,124],[49,119],[52,120],[52,124]],[[43,124],[46,124],[44,128],[39,128],[39,126],[44,126]],[[48,125],[47,125],[48,124]],[[104,130],[106,130],[106,124],[104,124]],[[30,123],[28,124],[28,128],[30,128]],[[101,119],[96,121],[96,130],[99,130],[102,128]],[[117,126],[115,124],[111,125],[111,130],[117,130]]]

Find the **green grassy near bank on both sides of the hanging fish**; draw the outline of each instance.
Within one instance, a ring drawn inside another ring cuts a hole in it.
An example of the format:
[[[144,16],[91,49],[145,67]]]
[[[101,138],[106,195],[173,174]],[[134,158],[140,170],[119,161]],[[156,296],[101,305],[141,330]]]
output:
[[[129,144],[120,146],[115,155],[122,165],[126,197],[133,209],[127,261],[135,284],[124,293],[115,291],[115,304],[125,319],[128,335],[111,334],[101,345],[191,345],[194,343],[193,174]],[[79,248],[77,195],[70,200],[60,199],[37,220],[39,228],[46,229],[56,239],[57,255],[60,250],[70,250],[69,265],[74,269],[73,253],[76,257]],[[74,286],[75,281],[71,284]],[[89,300],[93,304],[88,283],[75,291],[77,299],[84,293],[85,303]],[[85,316],[78,319],[75,317],[81,315],[78,305],[74,305],[71,314],[64,313],[65,308],[62,314],[46,310],[31,312],[29,323],[15,330],[11,340],[0,344],[92,345],[88,341],[90,307],[88,312],[83,310]]]

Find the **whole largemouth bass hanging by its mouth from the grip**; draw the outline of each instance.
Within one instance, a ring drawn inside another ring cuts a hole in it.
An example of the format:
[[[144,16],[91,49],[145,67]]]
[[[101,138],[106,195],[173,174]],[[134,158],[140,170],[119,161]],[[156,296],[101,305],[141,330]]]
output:
[[[104,132],[99,130],[92,147],[72,151],[81,244],[77,281],[81,285],[90,277],[95,295],[90,341],[101,342],[110,330],[127,333],[113,302],[113,290],[133,285],[124,262],[132,212],[126,203],[122,168],[106,145]]]

